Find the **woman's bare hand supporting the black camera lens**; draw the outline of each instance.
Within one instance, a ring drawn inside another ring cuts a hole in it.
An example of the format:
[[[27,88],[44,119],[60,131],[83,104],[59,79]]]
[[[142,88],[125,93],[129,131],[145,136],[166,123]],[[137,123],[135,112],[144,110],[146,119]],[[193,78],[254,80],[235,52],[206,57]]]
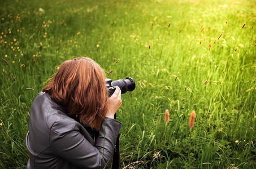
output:
[[[115,86],[116,90],[111,97],[107,99],[108,111],[106,117],[114,118],[115,112],[122,105],[121,90],[118,86]]]

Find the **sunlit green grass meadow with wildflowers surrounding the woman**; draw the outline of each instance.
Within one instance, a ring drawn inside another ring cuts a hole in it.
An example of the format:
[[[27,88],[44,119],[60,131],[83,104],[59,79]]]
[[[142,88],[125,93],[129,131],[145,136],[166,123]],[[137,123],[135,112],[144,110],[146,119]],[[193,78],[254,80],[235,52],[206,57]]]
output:
[[[256,168],[255,6],[1,1],[0,168],[25,168],[32,101],[62,61],[78,56],[107,78],[136,81],[117,113],[121,168]]]

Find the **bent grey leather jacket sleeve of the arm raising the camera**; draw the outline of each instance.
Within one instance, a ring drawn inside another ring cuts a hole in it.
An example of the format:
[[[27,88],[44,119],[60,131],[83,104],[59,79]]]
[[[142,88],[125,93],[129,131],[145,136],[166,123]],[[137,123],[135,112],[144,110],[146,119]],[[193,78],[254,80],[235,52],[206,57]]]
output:
[[[95,145],[90,144],[80,133],[79,127],[73,126],[68,131],[63,130],[62,125],[57,123],[51,128],[50,138],[56,155],[81,168],[104,168],[111,160],[122,123],[106,118],[102,122]],[[66,123],[65,126],[67,125]]]

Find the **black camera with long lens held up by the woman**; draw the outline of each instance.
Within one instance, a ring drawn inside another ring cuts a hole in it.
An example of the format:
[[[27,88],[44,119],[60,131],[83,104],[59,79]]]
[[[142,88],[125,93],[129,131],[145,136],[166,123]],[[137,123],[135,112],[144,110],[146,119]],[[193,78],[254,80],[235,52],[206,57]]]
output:
[[[135,81],[133,78],[128,77],[124,79],[118,79],[116,81],[112,81],[111,79],[105,79],[107,90],[109,91],[109,96],[114,94],[115,87],[120,87],[121,94],[125,94],[127,91],[133,91],[135,89]]]

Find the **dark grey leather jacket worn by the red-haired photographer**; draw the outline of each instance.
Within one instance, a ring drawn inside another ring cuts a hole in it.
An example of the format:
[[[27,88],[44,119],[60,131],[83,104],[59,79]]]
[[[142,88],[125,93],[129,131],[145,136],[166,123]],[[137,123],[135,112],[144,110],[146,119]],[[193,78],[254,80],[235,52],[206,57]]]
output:
[[[107,168],[122,123],[102,122],[96,141],[66,110],[40,92],[29,116],[27,168]]]

